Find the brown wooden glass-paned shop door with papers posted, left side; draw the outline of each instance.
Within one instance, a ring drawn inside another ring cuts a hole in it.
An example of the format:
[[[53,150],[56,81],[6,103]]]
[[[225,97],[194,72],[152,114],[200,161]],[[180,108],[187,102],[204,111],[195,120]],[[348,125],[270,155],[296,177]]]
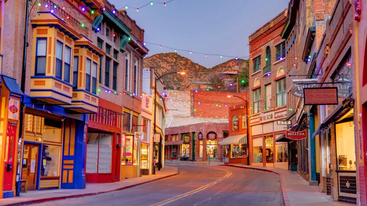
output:
[[[26,190],[36,190],[39,146],[24,143],[22,180],[26,180]]]

